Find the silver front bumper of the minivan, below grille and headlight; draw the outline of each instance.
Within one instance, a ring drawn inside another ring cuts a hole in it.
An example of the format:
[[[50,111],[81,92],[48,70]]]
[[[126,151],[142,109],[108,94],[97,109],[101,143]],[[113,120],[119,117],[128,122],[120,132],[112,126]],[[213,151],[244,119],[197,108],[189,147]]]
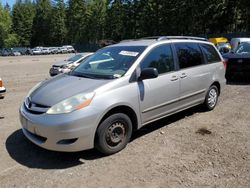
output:
[[[86,107],[68,114],[31,114],[24,105],[20,121],[24,135],[34,144],[49,150],[74,152],[94,147],[100,113]]]

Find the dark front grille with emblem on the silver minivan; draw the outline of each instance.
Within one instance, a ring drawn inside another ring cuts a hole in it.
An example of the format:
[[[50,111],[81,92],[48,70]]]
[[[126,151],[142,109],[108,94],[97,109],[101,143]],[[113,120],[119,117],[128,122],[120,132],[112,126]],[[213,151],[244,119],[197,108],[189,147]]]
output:
[[[50,108],[50,106],[32,102],[30,97],[25,100],[24,107],[29,113],[36,115],[46,113]]]

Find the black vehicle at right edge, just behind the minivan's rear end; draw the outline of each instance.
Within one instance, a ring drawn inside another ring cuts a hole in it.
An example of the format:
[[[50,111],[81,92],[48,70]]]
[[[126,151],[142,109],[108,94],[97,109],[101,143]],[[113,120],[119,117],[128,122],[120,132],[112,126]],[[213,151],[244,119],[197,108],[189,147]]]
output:
[[[237,76],[250,78],[250,41],[240,43],[234,51],[224,54],[223,58],[227,64],[228,80]]]

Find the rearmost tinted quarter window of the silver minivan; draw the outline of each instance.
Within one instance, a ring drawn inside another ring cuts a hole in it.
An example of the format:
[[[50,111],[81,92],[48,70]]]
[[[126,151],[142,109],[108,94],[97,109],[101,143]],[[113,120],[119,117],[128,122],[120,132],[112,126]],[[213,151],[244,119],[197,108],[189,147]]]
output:
[[[201,44],[203,53],[205,54],[208,63],[215,63],[221,61],[218,52],[214,49],[212,45]]]

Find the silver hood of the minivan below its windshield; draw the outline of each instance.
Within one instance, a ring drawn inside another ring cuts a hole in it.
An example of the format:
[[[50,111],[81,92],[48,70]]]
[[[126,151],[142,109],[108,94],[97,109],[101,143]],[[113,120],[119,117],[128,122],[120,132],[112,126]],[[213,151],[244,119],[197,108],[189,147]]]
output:
[[[53,106],[64,99],[84,92],[92,92],[112,80],[81,78],[62,74],[44,81],[31,95],[31,101]]]

